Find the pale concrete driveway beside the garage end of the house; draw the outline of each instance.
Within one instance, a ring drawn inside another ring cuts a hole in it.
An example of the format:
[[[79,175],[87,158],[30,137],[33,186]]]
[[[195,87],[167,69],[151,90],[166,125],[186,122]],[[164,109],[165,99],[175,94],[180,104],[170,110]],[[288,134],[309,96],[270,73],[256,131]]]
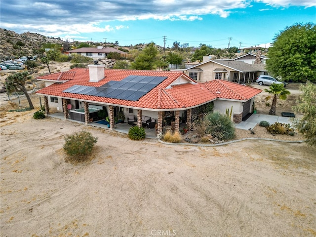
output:
[[[290,123],[291,119],[288,117],[280,117],[276,115],[262,115],[262,114],[252,114],[246,121],[241,121],[240,123],[236,124],[236,128],[248,130],[249,128],[253,129],[257,123],[260,121],[267,121],[270,124],[275,122],[281,123]]]

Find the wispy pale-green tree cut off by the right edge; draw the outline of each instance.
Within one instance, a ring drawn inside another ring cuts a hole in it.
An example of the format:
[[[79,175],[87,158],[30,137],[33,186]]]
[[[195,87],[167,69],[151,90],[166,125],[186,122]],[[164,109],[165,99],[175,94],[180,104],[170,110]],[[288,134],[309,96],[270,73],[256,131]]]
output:
[[[303,117],[294,119],[294,126],[309,145],[316,147],[316,85],[307,81],[306,85],[301,84],[300,90],[300,99],[292,109],[295,113],[303,114]]]

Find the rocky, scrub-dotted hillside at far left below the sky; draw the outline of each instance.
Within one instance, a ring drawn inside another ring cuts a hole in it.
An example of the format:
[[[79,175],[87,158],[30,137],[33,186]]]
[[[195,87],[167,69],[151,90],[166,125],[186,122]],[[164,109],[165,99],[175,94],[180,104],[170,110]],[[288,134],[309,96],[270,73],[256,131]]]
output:
[[[17,34],[14,31],[0,28],[0,59],[34,55],[33,49],[40,49],[43,43],[62,44],[63,42],[63,40],[42,36],[38,33]]]

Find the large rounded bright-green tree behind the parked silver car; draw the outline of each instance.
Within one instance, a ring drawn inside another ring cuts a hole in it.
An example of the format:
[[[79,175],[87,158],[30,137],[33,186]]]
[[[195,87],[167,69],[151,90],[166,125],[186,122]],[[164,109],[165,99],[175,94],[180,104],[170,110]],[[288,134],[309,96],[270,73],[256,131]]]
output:
[[[267,70],[285,81],[316,82],[316,24],[296,23],[273,39]]]

